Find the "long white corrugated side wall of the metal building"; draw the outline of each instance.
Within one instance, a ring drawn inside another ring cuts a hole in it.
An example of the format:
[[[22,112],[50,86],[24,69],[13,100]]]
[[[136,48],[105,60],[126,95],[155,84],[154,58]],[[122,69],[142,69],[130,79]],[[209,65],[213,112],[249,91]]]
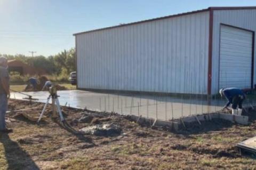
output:
[[[207,93],[209,12],[76,35],[78,88]]]

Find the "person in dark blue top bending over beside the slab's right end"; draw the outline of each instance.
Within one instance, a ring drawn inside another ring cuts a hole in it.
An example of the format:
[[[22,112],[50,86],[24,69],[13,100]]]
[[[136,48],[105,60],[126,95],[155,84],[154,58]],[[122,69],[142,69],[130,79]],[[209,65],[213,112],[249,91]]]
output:
[[[220,89],[220,95],[224,95],[226,99],[228,100],[225,107],[223,107],[222,110],[228,109],[229,105],[232,104],[232,115],[242,115],[242,104],[243,100],[245,99],[244,92],[239,88],[221,88]],[[237,110],[238,106],[238,110]]]

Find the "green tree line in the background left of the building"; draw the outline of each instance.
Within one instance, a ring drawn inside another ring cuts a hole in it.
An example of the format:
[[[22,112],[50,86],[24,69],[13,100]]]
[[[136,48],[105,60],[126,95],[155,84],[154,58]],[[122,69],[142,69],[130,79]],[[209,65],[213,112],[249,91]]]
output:
[[[47,74],[69,74],[71,71],[75,71],[76,69],[76,51],[75,48],[71,48],[70,50],[64,50],[56,55],[50,56],[25,56],[22,54],[9,55],[2,54],[8,60],[20,60],[29,66],[33,66],[35,68],[42,68],[46,70]],[[1,56],[1,53],[0,53]]]

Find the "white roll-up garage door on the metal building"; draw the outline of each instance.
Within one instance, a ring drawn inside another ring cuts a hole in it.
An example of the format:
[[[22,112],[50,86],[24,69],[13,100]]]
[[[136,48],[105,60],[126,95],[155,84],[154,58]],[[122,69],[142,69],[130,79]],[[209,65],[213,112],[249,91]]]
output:
[[[221,25],[220,88],[251,88],[253,33]]]

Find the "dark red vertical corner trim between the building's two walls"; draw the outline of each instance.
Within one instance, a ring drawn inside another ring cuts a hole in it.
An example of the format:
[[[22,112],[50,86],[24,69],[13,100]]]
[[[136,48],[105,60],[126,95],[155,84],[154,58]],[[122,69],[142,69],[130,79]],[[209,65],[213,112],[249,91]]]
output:
[[[209,49],[208,49],[208,74],[207,94],[212,93],[212,37],[213,37],[213,10],[210,9],[209,18]]]

